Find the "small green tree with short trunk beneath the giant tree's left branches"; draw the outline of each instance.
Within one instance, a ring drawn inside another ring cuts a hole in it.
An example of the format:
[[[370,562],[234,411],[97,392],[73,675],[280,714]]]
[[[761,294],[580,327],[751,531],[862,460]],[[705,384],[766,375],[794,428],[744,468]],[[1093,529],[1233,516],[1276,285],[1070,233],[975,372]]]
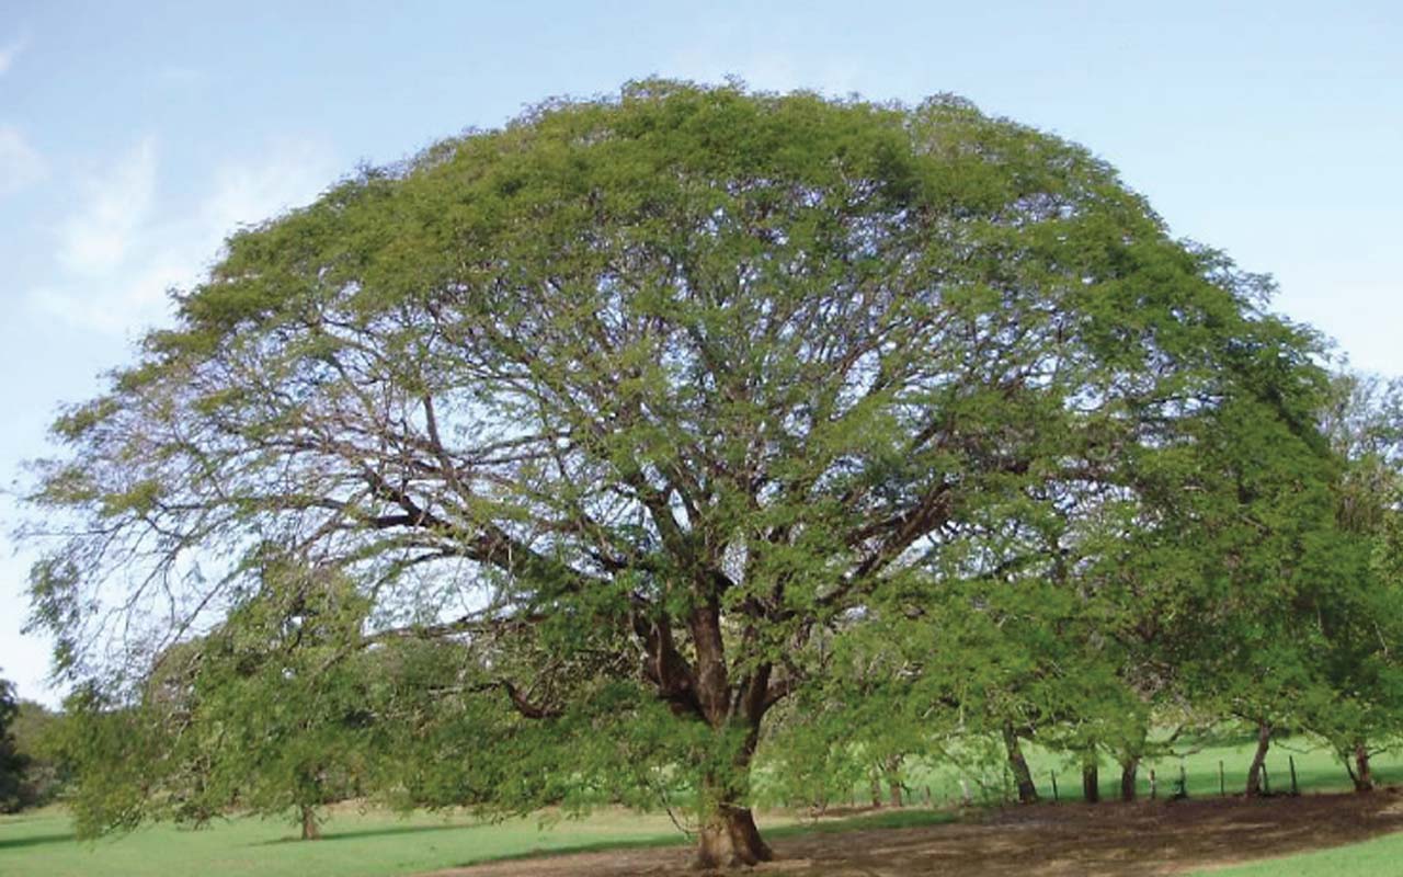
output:
[[[304,841],[321,836],[318,808],[352,797],[369,772],[365,608],[334,574],[265,563],[262,588],[203,640],[191,678],[184,732],[208,796],[290,811]]]

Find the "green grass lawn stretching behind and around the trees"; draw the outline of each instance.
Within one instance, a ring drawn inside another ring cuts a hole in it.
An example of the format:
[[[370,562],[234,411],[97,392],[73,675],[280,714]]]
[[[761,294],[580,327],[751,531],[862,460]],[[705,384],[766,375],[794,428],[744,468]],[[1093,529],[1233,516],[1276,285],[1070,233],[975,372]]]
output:
[[[1218,794],[1218,762],[1228,772],[1229,793],[1242,786],[1251,755],[1250,745],[1218,747],[1186,756],[1190,794]],[[1288,755],[1295,756],[1302,790],[1347,789],[1348,777],[1329,754],[1302,748],[1274,747],[1268,769],[1275,789],[1288,783]],[[1080,776],[1056,756],[1028,751],[1040,790],[1051,798],[1049,772],[1059,776],[1063,801],[1080,797]],[[1160,790],[1167,794],[1179,776],[1179,759],[1163,759],[1155,769]],[[960,794],[960,775],[953,770],[912,772],[911,784],[918,796],[932,787],[937,800]],[[1103,770],[1103,794],[1118,790],[1118,775],[1111,766]],[[1403,759],[1381,758],[1376,776],[1383,783],[1403,782]],[[1146,791],[1142,772],[1142,794]],[[984,777],[996,786],[991,775]],[[859,793],[860,794],[860,793]],[[861,797],[859,797],[861,801]],[[793,814],[766,812],[760,822],[766,835],[842,831],[853,825],[919,825],[947,818],[922,810],[892,811],[875,822],[861,819],[822,822],[817,826]],[[586,819],[513,819],[483,824],[457,814],[450,817],[415,814],[400,818],[380,811],[338,808],[325,825],[325,839],[317,843],[296,842],[296,829],[278,819],[240,818],[217,822],[202,831],[154,825],[130,835],[79,842],[62,810],[0,818],[0,876],[4,877],[156,877],[201,873],[208,877],[391,877],[434,869],[519,857],[540,852],[652,846],[683,842],[666,815],[634,815],[600,811]],[[1403,873],[1403,835],[1393,835],[1337,850],[1309,853],[1287,860],[1219,871],[1226,874],[1361,874],[1393,876]],[[1295,870],[1292,870],[1295,869]]]

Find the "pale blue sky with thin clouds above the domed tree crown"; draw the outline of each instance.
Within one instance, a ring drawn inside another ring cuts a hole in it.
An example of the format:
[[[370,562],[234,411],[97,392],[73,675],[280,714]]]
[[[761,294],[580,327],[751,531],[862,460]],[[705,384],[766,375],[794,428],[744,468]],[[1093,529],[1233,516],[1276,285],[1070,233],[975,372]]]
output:
[[[0,481],[239,223],[650,74],[962,94],[1089,146],[1176,234],[1274,274],[1278,310],[1403,375],[1400,43],[1388,0],[0,0]],[[0,495],[0,675],[53,702],[15,519]]]

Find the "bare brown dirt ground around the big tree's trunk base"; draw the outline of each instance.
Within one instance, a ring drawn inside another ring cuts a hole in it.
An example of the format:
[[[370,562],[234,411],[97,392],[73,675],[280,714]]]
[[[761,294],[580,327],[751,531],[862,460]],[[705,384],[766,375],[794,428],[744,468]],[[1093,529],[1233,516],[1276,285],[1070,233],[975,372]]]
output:
[[[755,877],[1180,874],[1403,831],[1397,789],[1329,794],[1009,807],[948,825],[781,838]],[[685,848],[519,859],[434,877],[613,877],[685,873]]]

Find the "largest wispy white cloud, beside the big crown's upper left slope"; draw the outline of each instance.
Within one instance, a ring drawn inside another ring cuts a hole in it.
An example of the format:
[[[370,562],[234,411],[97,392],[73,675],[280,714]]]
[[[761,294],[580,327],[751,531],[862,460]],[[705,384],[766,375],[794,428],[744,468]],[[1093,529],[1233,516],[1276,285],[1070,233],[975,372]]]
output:
[[[257,160],[209,173],[192,199],[168,196],[154,139],[86,185],[59,229],[56,282],[29,290],[35,310],[104,334],[130,334],[168,316],[167,290],[196,283],[223,240],[306,203],[333,181],[325,150],[302,140],[269,145]]]

